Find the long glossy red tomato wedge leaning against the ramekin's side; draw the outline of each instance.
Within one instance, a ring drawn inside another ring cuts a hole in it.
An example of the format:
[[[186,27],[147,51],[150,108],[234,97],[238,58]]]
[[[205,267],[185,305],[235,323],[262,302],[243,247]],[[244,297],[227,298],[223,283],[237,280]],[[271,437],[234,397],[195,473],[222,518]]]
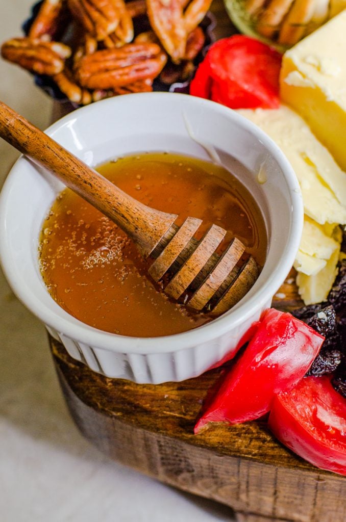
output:
[[[237,424],[267,413],[276,394],[292,389],[304,377],[323,341],[289,313],[263,312],[255,335],[223,377],[194,432],[209,422]]]

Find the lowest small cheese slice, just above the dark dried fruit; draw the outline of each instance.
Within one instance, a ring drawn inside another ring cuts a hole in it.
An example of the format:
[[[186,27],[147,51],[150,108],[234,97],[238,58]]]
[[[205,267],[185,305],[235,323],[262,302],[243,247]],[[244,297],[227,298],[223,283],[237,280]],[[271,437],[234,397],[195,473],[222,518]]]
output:
[[[298,291],[305,304],[320,303],[327,299],[327,295],[338,273],[339,254],[340,246],[333,252],[326,266],[314,276],[307,276],[302,272],[298,273]]]

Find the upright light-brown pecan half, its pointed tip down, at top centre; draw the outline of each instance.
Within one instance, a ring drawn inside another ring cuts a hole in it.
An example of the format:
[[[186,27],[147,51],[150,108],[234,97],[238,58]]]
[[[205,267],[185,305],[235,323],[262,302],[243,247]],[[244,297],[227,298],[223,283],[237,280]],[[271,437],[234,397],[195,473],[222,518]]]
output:
[[[146,0],[152,28],[173,62],[178,63],[185,53],[188,32],[181,0]]]

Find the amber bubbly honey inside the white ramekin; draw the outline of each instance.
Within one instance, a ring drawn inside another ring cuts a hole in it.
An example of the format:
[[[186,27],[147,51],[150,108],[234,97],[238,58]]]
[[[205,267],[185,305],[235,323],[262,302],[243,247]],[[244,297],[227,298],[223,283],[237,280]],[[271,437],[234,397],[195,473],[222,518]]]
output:
[[[96,170],[145,205],[178,214],[180,222],[193,216],[223,227],[263,266],[267,233],[259,207],[244,185],[220,165],[151,152],[109,161]],[[70,189],[56,198],[43,223],[39,260],[52,298],[100,330],[157,337],[213,319],[170,301],[155,288],[131,240]]]

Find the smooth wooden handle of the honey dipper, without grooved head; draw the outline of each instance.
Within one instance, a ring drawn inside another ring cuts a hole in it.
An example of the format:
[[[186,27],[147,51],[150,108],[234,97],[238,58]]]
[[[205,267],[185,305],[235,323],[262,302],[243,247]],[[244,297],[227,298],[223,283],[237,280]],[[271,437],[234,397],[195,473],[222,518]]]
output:
[[[144,256],[154,250],[177,217],[125,194],[1,101],[0,136],[117,223]]]

